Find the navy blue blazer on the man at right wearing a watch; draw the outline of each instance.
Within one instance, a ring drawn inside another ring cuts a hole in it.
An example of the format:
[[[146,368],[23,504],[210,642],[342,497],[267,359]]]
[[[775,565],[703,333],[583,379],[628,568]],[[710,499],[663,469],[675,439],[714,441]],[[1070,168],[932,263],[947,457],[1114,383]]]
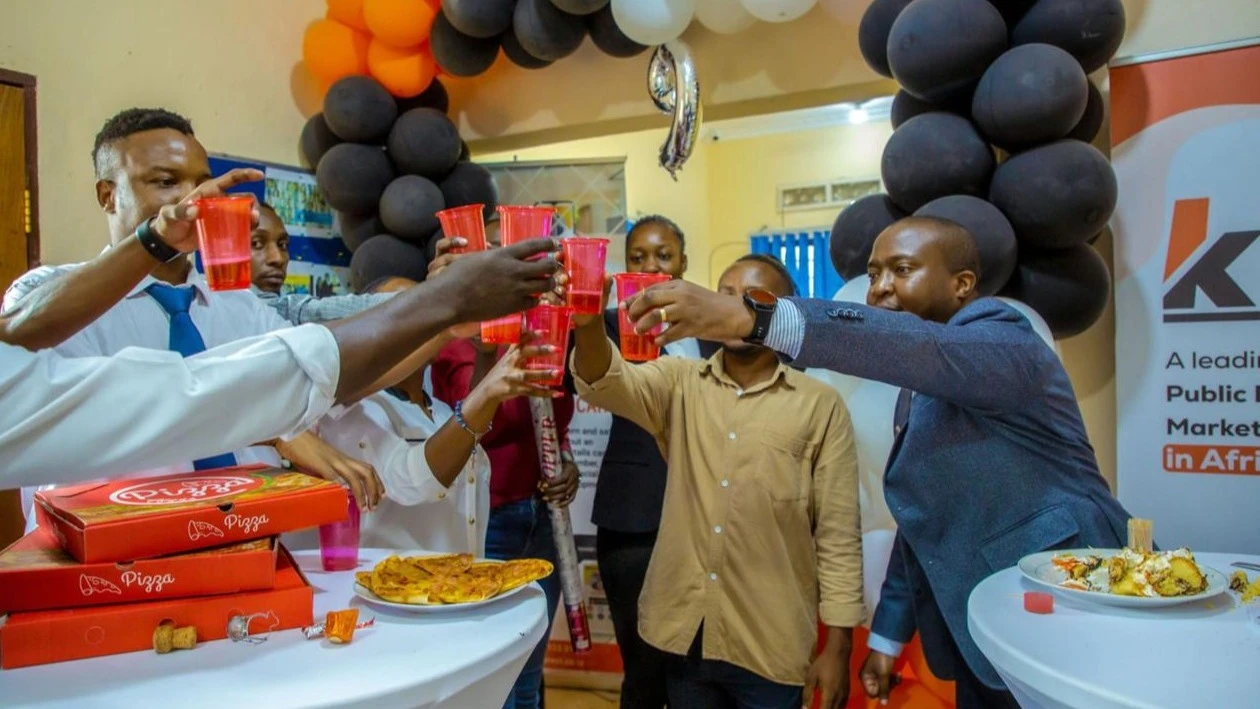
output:
[[[945,325],[864,305],[793,302],[805,317],[794,364],[916,394],[885,468],[897,539],[872,631],[906,642],[917,627],[944,679],[955,676],[953,638],[980,680],[1003,686],[968,632],[975,586],[1024,554],[1120,547],[1126,536],[1129,514],[1099,474],[1067,373],[997,298],[971,302]]]

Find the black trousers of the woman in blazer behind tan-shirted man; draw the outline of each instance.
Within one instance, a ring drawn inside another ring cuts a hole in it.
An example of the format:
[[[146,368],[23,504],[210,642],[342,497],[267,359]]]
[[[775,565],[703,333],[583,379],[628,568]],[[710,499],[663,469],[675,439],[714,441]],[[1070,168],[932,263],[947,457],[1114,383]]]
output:
[[[617,636],[624,667],[621,709],[662,709],[665,705],[669,655],[639,636],[639,593],[643,592],[643,579],[648,576],[648,562],[655,544],[655,531],[634,534],[601,526],[595,536],[600,582],[609,598],[612,631]]]

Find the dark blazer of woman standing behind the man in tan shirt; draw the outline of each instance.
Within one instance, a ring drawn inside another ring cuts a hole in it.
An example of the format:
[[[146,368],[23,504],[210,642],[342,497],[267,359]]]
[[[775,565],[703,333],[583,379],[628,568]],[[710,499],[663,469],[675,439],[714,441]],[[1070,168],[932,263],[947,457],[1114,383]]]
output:
[[[614,341],[620,336],[617,311],[604,311],[604,327]],[[701,356],[718,350],[701,341]],[[660,528],[660,508],[665,500],[665,458],[656,440],[620,416],[612,417],[609,447],[604,452],[600,477],[595,485],[591,521],[600,528],[622,533],[649,533]]]

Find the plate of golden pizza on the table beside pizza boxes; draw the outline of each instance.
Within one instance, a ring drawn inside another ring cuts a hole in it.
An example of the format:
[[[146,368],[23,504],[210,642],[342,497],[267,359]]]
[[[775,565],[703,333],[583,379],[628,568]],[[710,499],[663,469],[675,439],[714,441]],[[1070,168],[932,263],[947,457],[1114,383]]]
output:
[[[475,608],[514,596],[553,570],[544,559],[500,562],[472,554],[392,554],[354,574],[364,601],[417,613]]]

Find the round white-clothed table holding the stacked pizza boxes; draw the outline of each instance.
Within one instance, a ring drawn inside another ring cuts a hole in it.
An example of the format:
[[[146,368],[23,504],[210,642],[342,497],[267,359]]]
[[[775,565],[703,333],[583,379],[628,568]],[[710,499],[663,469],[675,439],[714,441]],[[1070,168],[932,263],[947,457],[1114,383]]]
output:
[[[388,554],[363,549],[359,568]],[[219,640],[164,656],[129,652],[5,670],[0,705],[501,706],[548,627],[538,584],[467,611],[410,613],[358,598],[354,573],[325,573],[319,552],[294,558],[315,589],[316,620],[354,604],[374,613],[375,626],[343,646],[286,630],[260,645]]]

